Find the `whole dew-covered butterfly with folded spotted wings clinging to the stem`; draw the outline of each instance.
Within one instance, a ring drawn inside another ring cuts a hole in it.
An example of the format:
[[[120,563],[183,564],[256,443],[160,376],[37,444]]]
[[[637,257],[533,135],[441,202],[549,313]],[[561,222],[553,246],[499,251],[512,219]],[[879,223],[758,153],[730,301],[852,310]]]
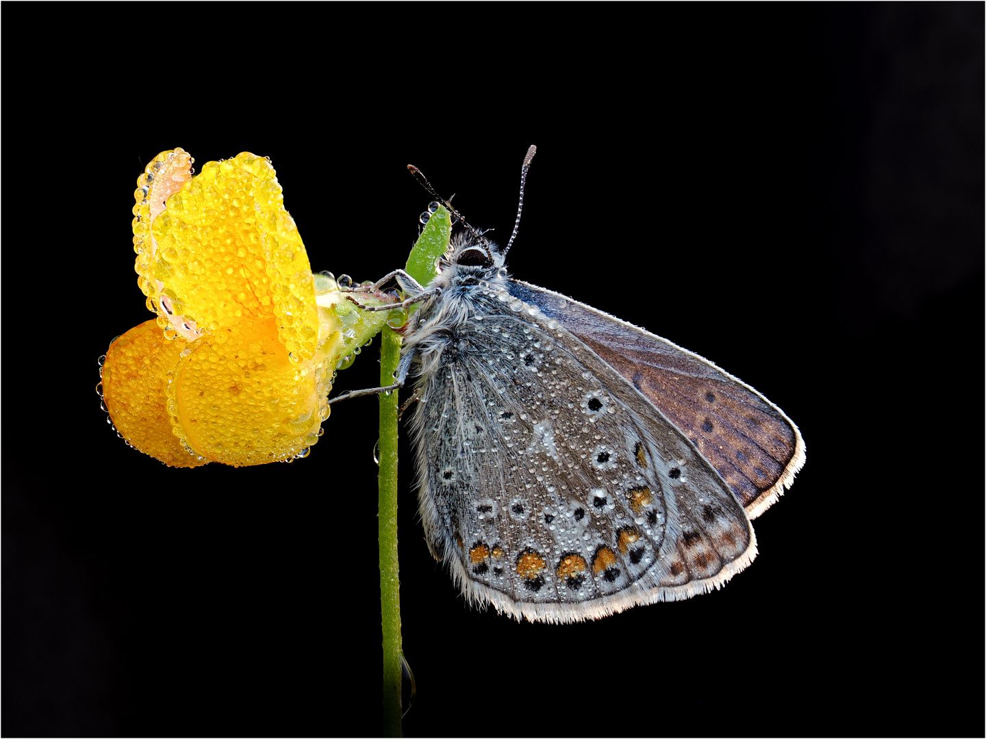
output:
[[[516,235],[501,249],[466,225],[428,286],[391,273],[419,304],[392,387],[417,378],[431,554],[469,601],[518,620],[720,587],[805,463],[798,427],[708,360],[511,277]]]

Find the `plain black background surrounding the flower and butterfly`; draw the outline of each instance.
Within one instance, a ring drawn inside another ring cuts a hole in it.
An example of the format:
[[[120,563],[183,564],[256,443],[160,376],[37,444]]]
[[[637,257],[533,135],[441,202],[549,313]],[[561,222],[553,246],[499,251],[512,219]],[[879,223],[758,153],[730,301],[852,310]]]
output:
[[[4,735],[380,732],[376,403],[292,465],[126,448],[134,182],[268,156],[365,280],[431,200],[405,165],[505,240],[531,143],[512,272],[740,376],[808,462],[723,590],[546,626],[463,602],[402,447],[405,733],[982,734],[981,4],[57,7],[3,14]]]

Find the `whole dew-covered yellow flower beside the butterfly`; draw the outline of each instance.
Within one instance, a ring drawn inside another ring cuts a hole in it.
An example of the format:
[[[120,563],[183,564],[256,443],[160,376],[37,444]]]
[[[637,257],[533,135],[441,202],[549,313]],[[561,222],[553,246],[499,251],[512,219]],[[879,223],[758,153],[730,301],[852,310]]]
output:
[[[192,176],[181,149],[137,180],[137,284],[157,313],[110,345],[109,417],[162,462],[235,466],[306,456],[341,358],[383,313],[337,304],[313,275],[274,168],[243,153]]]

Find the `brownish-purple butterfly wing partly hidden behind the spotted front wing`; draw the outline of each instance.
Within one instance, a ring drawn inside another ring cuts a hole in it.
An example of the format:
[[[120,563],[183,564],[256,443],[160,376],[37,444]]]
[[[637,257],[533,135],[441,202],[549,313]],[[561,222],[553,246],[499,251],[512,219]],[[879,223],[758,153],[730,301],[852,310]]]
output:
[[[536,305],[584,341],[688,437],[755,518],[774,504],[805,464],[805,441],[780,408],[708,360],[601,310],[509,280],[511,294]]]

